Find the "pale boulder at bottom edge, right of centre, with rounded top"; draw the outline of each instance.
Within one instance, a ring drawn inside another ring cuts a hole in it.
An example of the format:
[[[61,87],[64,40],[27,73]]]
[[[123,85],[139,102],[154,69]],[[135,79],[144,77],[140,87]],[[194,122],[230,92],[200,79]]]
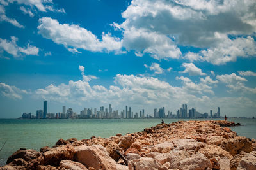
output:
[[[212,169],[212,165],[209,159],[205,157],[202,153],[196,153],[191,158],[186,158],[180,161],[179,165],[180,169],[196,169],[196,170],[204,170],[207,168]]]

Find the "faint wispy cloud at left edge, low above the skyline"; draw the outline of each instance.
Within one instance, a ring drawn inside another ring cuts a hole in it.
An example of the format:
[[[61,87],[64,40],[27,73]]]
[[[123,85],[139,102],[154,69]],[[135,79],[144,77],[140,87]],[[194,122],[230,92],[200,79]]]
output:
[[[26,90],[20,90],[18,87],[0,83],[0,92],[3,96],[11,99],[22,99],[22,94],[28,94]]]

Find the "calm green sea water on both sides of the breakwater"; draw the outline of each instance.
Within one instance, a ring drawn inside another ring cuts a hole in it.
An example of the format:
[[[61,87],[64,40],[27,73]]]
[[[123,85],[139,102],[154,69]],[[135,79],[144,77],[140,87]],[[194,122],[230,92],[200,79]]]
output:
[[[193,119],[164,119],[165,123]],[[211,120],[211,119],[196,119]],[[218,120],[218,119],[214,119]],[[239,136],[256,139],[256,119],[229,118],[242,126],[231,127]],[[19,148],[40,150],[54,146],[58,139],[90,139],[91,136],[110,137],[115,134],[141,132],[161,123],[161,119],[0,119],[0,166]],[[5,143],[5,145],[4,145]]]

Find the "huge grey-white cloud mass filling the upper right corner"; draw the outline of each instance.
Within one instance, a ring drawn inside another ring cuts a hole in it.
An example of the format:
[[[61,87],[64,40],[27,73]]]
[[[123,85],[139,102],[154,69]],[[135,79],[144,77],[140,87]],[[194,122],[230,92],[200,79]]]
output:
[[[255,6],[246,0],[134,0],[122,13],[125,21],[112,25],[123,32],[122,45],[138,56],[179,59],[179,45],[193,46],[204,50],[185,58],[220,65],[255,56]]]

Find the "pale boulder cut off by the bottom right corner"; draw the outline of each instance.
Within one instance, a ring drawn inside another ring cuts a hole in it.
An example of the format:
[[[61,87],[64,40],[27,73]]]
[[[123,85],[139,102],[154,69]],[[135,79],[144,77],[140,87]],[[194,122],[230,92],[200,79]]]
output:
[[[247,153],[242,159],[240,160],[239,166],[237,170],[254,170],[256,169],[256,151]]]

